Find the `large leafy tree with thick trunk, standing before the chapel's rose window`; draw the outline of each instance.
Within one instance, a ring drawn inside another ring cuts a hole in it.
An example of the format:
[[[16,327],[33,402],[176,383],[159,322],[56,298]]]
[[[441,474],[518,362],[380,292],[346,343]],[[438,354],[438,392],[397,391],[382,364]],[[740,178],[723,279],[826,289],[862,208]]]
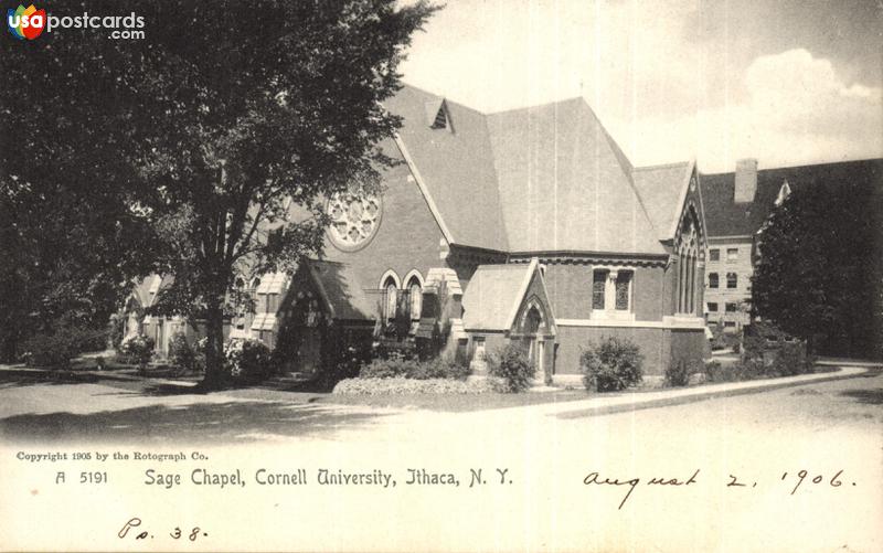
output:
[[[140,258],[127,263],[174,277],[166,312],[204,319],[212,386],[236,278],[315,255],[323,200],[375,189],[392,163],[377,145],[400,120],[382,103],[435,7],[134,0],[120,13],[99,0],[64,9],[135,12],[146,36],[62,30],[6,41],[4,71],[18,86],[2,93],[11,120],[0,179],[36,190],[74,179],[86,196],[95,182],[116,187],[109,193],[126,212],[114,219],[148,230],[131,245]]]

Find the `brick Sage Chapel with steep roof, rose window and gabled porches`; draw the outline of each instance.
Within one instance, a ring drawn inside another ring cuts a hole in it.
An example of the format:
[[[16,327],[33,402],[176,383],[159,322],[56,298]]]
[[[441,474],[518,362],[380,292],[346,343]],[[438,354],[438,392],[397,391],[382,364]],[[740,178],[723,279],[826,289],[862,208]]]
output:
[[[230,336],[275,347],[294,333],[288,365],[302,372],[392,325],[477,372],[487,352],[523,344],[547,381],[578,375],[603,337],[637,343],[649,375],[703,358],[694,161],[632,167],[582,98],[485,114],[405,86],[386,107],[403,127],[382,145],[401,161],[382,193],[329,199],[322,258],[256,275],[257,312]],[[162,325],[141,328],[158,349]]]

